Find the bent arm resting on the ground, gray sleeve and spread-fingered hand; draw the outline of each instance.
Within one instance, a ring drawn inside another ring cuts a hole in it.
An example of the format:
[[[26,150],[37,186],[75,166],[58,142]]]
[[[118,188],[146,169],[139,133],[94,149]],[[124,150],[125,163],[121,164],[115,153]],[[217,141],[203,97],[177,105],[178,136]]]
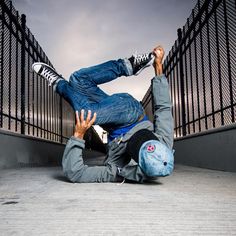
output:
[[[76,112],[76,126],[74,136],[68,141],[62,167],[65,176],[72,182],[115,182],[117,181],[117,167],[115,165],[88,167],[84,165],[82,151],[85,147],[83,140],[85,132],[91,127],[96,119],[96,113],[91,119],[91,111],[84,120],[84,111],[79,117]]]

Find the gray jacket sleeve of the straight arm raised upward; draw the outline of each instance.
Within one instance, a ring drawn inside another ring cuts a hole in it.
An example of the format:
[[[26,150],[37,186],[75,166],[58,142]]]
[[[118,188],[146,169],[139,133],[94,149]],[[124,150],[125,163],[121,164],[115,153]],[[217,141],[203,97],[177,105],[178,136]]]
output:
[[[169,84],[164,75],[153,78],[152,94],[155,134],[161,142],[172,149],[174,137],[174,123],[171,111],[172,104],[170,101]]]

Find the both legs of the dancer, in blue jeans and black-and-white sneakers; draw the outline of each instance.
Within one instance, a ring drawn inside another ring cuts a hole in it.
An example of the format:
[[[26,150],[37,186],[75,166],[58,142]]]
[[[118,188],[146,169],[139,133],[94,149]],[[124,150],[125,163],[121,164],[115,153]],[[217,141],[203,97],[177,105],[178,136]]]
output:
[[[63,96],[74,110],[96,112],[96,124],[109,128],[127,126],[136,122],[143,113],[138,101],[128,94],[108,96],[98,84],[103,84],[120,76],[139,73],[152,62],[152,54],[136,55],[129,59],[109,61],[94,67],[75,72],[67,82],[50,66],[34,63],[33,70],[49,81],[54,89]]]

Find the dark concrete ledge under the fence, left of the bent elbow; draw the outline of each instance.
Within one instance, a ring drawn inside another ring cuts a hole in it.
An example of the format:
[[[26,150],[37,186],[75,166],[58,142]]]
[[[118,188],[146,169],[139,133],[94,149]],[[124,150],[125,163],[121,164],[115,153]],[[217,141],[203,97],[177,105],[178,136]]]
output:
[[[65,145],[0,130],[0,169],[59,165]]]

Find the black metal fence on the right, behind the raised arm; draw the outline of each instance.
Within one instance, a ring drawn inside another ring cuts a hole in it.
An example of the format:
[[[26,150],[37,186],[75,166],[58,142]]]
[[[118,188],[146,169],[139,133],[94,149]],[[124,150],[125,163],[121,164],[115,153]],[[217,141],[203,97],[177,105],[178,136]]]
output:
[[[164,62],[175,137],[236,119],[236,1],[199,0]],[[143,103],[150,113],[150,89]]]

